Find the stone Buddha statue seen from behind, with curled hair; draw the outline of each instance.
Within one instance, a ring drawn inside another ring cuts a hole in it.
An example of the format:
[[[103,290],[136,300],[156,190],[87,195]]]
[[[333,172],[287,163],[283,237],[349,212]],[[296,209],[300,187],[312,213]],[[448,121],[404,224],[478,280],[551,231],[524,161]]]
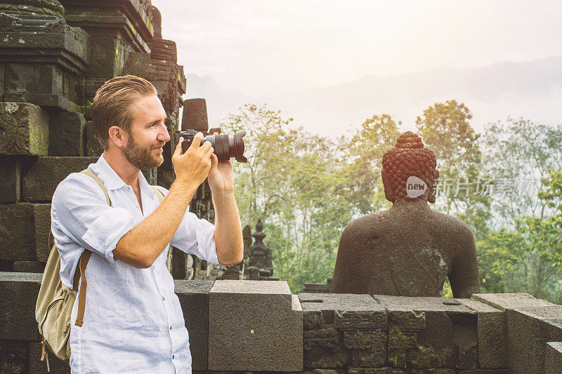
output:
[[[384,154],[381,177],[393,205],[346,227],[330,292],[440,296],[447,276],[455,298],[480,292],[471,229],[428,206],[439,172],[417,134],[400,135]]]

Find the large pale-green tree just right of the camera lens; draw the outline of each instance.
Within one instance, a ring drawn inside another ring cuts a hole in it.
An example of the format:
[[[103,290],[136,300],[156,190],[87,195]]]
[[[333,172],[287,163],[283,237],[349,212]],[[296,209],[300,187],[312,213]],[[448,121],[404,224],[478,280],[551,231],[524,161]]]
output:
[[[245,105],[221,127],[247,131],[248,163],[235,167],[235,193],[242,222],[265,222],[275,275],[293,292],[331,276],[352,210],[339,193],[346,180],[334,143],[266,106]]]

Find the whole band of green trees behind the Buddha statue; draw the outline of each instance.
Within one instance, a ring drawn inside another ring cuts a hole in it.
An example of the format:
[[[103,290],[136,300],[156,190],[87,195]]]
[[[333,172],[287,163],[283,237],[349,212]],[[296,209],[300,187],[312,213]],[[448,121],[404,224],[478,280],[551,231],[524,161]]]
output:
[[[507,119],[478,134],[471,118],[455,100],[417,117],[417,131],[440,171],[435,208],[473,230],[483,291],[562,302],[562,126]],[[334,142],[267,106],[246,105],[221,123],[228,133],[248,131],[249,162],[235,165],[240,215],[244,224],[265,222],[275,276],[293,293],[332,276],[341,232],[353,218],[391,205],[384,198],[381,159],[395,145],[400,124],[374,115]],[[502,180],[534,180],[537,186],[499,193]],[[470,187],[447,189],[451,182]],[[485,183],[490,194],[476,188]],[[452,298],[448,281],[443,295]]]

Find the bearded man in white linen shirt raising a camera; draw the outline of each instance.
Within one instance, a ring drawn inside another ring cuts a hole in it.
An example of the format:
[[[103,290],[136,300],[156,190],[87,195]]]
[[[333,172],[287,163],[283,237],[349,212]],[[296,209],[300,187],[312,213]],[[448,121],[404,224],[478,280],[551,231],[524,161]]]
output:
[[[214,264],[242,261],[233,167],[218,162],[209,142],[200,146],[202,133],[184,154],[181,138],[172,156],[176,180],[169,191],[159,187],[166,195],[159,205],[141,173],[162,164],[162,146],[170,140],[154,86],[137,76],[110,79],[91,111],[104,151],[89,170],[103,182],[112,206],[93,178],[72,173],[58,185],[51,208],[66,286],[72,288],[84,248],[92,251],[84,323],[71,323],[72,372],[191,373],[188,331],[166,268],[167,248],[171,243]],[[188,211],[205,178],[215,225]]]

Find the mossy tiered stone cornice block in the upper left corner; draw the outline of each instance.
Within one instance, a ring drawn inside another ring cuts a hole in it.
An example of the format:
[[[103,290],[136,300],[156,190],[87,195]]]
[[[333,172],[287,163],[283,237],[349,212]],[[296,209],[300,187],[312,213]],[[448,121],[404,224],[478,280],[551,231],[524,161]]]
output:
[[[4,101],[79,112],[79,105],[84,105],[83,76],[90,62],[89,34],[67,25],[53,11],[55,5],[37,14],[20,11],[20,5],[0,5],[0,11],[11,9],[0,13]]]

